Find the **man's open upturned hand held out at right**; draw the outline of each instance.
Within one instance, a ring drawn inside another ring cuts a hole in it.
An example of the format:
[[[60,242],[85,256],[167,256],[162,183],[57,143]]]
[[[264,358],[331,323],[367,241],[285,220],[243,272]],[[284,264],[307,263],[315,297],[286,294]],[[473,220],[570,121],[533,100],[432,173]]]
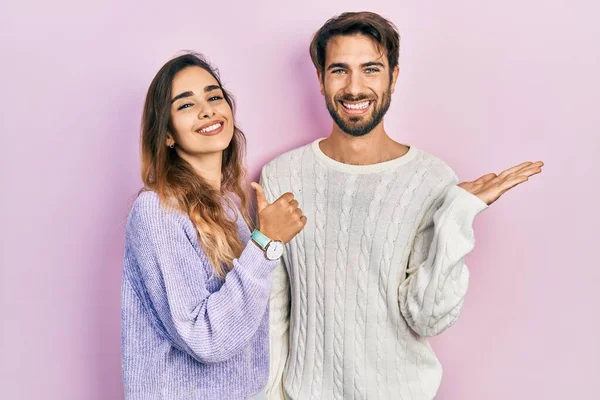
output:
[[[458,186],[490,205],[508,190],[527,182],[530,176],[542,172],[543,166],[544,163],[541,161],[535,163],[528,161],[509,168],[500,175],[487,174],[473,182],[463,182]]]

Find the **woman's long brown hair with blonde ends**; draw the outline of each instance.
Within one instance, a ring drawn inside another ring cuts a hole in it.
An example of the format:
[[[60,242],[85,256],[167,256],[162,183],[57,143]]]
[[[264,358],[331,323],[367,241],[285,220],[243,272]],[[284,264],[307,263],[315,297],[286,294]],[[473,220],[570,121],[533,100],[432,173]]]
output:
[[[213,272],[225,277],[232,268],[233,259],[239,257],[243,250],[238,235],[235,202],[239,203],[246,223],[252,226],[248,214],[248,196],[244,190],[246,138],[234,124],[231,143],[223,151],[221,190],[212,188],[174,149],[167,147],[167,133],[173,132],[173,79],[179,71],[189,67],[200,67],[217,80],[225,101],[231,107],[232,114],[235,114],[234,100],[223,88],[218,71],[201,55],[186,53],[167,62],[152,80],[144,104],[142,181],[144,189],[158,193],[164,205],[174,205],[189,215]],[[237,199],[232,200],[230,195]],[[234,210],[233,215],[226,211],[226,207]]]

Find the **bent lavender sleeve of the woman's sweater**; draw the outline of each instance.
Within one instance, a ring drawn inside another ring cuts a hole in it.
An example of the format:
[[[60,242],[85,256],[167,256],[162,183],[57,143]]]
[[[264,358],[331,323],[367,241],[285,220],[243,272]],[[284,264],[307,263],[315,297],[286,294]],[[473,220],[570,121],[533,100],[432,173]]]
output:
[[[276,263],[249,242],[219,290],[207,288],[210,264],[184,229],[187,217],[140,196],[127,236],[158,322],[171,343],[203,363],[233,357],[256,333],[267,309]]]

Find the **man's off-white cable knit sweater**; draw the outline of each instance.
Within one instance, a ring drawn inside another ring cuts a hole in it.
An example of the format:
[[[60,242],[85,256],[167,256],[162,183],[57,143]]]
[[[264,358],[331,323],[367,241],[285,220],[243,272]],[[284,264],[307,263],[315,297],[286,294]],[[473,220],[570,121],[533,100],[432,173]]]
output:
[[[356,166],[320,140],[261,176],[270,201],[291,191],[308,218],[273,273],[267,398],[432,399],[442,367],[426,338],[460,314],[487,206],[415,147]]]

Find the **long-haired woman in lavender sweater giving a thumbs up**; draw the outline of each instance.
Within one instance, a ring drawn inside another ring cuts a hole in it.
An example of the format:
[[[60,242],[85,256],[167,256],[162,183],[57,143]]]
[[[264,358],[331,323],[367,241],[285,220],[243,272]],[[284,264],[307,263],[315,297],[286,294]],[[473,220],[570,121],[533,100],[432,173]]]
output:
[[[160,69],[141,141],[144,189],[127,223],[122,286],[126,398],[263,398],[270,273],[306,218],[293,195],[269,205],[253,184],[251,235],[245,138],[199,55]]]

